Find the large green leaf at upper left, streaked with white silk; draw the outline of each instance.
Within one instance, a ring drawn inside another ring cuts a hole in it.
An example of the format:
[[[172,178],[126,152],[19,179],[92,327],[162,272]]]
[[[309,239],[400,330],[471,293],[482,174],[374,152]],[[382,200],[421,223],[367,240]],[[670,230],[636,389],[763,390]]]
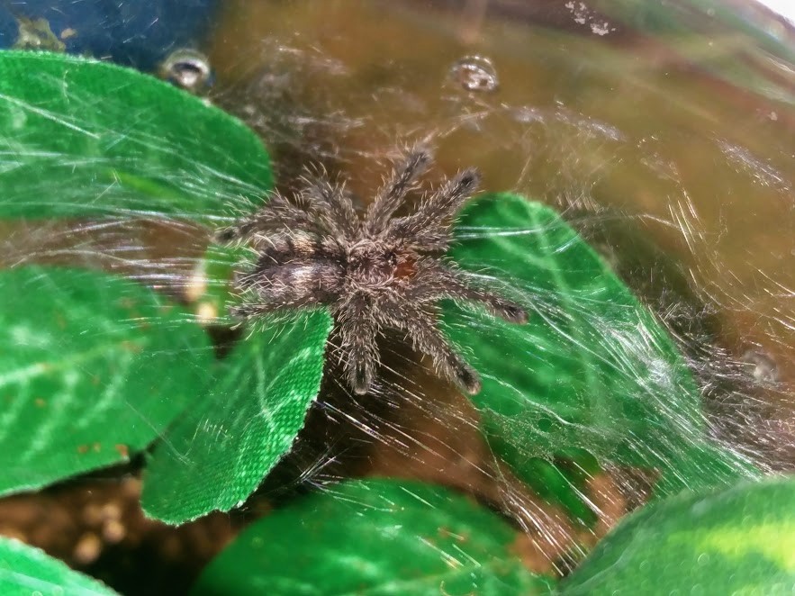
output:
[[[139,72],[0,52],[0,217],[246,209],[272,185],[261,142],[229,114]]]

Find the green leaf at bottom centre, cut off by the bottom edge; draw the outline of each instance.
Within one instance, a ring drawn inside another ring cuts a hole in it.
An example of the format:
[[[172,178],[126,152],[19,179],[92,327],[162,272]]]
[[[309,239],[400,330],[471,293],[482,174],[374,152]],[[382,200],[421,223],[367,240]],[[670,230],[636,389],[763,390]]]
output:
[[[342,483],[247,528],[204,570],[211,594],[549,594],[511,552],[517,533],[455,492]]]

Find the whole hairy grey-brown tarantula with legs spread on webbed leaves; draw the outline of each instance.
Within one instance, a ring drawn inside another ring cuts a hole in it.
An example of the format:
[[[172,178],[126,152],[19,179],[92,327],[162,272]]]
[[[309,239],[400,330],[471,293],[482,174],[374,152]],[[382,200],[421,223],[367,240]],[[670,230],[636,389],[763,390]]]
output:
[[[479,375],[438,328],[439,300],[479,303],[515,323],[526,322],[528,313],[443,258],[456,213],[480,180],[474,168],[424,195],[413,212],[395,216],[429,163],[428,151],[411,150],[361,219],[344,186],[321,176],[305,179],[292,200],[274,194],[259,211],[221,230],[222,241],[246,240],[257,254],[256,265],[236,281],[255,301],[235,314],[328,306],[340,362],[359,394],[373,384],[380,360],[376,338],[388,328],[404,332],[438,374],[467,393],[480,391]]]

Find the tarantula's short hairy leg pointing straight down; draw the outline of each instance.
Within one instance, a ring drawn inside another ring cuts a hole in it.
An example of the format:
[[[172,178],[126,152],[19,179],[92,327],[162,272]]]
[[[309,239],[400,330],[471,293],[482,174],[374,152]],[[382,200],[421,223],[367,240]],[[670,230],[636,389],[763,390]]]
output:
[[[354,294],[337,312],[342,365],[348,384],[363,395],[370,390],[378,366],[378,346],[375,338],[380,326],[375,306],[363,295]]]

